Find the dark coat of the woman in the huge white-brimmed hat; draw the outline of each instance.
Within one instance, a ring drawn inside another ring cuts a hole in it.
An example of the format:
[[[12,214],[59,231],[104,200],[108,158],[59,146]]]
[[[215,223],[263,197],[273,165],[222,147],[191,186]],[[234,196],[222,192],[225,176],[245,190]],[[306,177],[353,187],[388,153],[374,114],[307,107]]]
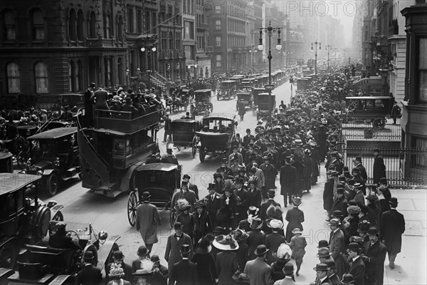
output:
[[[238,269],[237,255],[235,252],[220,252],[216,254],[216,275],[218,275],[218,285],[234,285],[231,278]]]

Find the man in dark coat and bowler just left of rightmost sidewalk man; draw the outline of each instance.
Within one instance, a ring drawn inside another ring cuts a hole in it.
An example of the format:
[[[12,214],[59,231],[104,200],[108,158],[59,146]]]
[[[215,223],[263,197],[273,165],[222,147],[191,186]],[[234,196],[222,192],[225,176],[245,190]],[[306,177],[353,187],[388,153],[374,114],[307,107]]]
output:
[[[379,241],[379,232],[376,227],[370,227],[368,235],[369,247],[366,256],[362,257],[366,266],[367,284],[382,285],[387,248]]]

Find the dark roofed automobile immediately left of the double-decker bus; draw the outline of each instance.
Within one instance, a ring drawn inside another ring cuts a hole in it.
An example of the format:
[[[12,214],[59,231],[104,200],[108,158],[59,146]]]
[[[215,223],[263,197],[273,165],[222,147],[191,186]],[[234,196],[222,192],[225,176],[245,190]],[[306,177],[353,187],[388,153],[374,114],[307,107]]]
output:
[[[41,175],[49,195],[56,195],[60,181],[80,177],[77,128],[55,128],[28,138],[33,147],[23,173]]]

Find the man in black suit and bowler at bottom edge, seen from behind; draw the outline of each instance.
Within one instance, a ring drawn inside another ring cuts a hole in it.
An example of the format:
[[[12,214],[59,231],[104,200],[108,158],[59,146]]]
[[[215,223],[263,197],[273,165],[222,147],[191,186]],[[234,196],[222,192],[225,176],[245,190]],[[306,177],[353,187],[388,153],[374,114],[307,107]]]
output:
[[[199,275],[197,266],[189,261],[191,253],[190,244],[181,245],[181,261],[176,262],[173,266],[171,280],[169,284],[175,285],[197,285],[199,284]]]

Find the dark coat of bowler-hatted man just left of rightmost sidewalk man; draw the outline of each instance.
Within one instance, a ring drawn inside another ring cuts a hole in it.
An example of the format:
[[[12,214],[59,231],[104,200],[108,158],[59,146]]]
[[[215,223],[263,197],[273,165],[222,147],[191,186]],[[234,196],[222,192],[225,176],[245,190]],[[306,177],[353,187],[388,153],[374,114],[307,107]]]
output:
[[[366,256],[369,262],[365,263],[366,274],[369,276],[369,284],[382,285],[384,280],[384,261],[386,260],[387,248],[379,240],[369,244]]]

